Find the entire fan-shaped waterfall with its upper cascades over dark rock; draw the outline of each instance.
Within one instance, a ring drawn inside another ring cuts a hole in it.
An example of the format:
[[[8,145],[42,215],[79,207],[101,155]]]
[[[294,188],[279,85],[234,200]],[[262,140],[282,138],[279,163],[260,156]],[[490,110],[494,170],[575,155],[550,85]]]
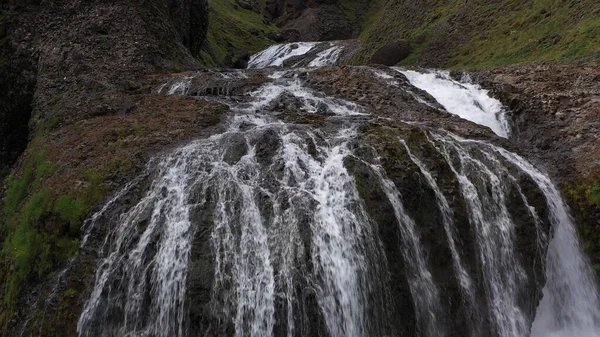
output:
[[[309,68],[261,69],[310,53]],[[324,73],[310,67],[341,53],[277,45],[252,57],[256,69],[222,74],[222,95],[194,87],[202,73],[157,88],[230,113],[216,134],[153,159],[127,210],[112,207],[130,185],[102,209],[118,213],[79,336],[600,336],[593,274],[548,176],[493,139],[394,124],[364,96],[310,85]],[[480,88],[402,73],[450,113],[509,134]],[[442,110],[394,70],[365,74]],[[251,76],[260,84],[230,97]]]

